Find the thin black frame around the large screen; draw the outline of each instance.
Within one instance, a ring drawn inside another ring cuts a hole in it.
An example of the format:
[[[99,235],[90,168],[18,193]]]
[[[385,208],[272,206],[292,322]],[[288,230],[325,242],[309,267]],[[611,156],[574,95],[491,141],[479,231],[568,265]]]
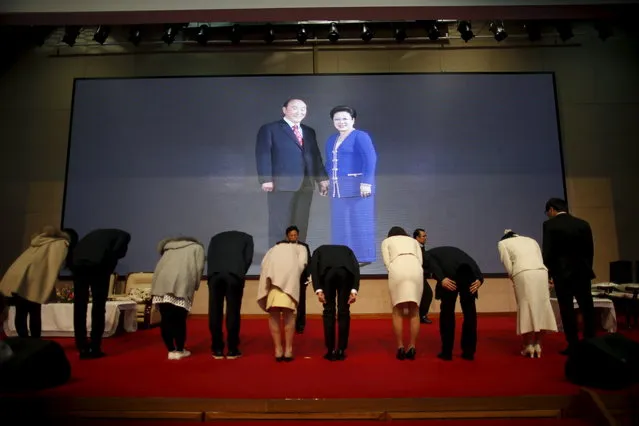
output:
[[[64,190],[62,193],[62,210],[60,215],[60,228],[64,229],[64,213],[66,211],[66,201],[67,201],[67,183],[69,177],[69,160],[71,157],[71,139],[73,138],[73,116],[74,116],[74,106],[75,106],[75,94],[78,82],[80,81],[91,81],[91,80],[154,80],[154,79],[180,79],[180,78],[190,78],[190,79],[199,79],[199,78],[259,78],[259,77],[286,77],[286,78],[295,78],[295,77],[308,77],[308,76],[384,76],[384,75],[549,75],[552,77],[552,86],[553,86],[553,96],[555,101],[555,116],[556,116],[556,124],[557,124],[557,140],[559,141],[559,161],[561,163],[561,178],[563,185],[563,198],[568,202],[568,192],[566,185],[566,165],[564,160],[564,141],[562,138],[561,131],[561,114],[559,112],[559,98],[557,92],[557,77],[554,71],[473,71],[473,72],[374,72],[374,73],[297,73],[297,74],[209,74],[209,75],[152,75],[152,76],[132,76],[132,77],[76,77],[73,79],[73,89],[71,92],[71,109],[69,113],[69,132],[67,138],[67,155],[64,165]],[[568,203],[568,205],[570,205]],[[134,271],[127,272],[127,275],[133,273]],[[144,272],[144,271],[137,271]],[[362,278],[366,279],[388,279],[388,274],[363,274],[361,273]],[[206,278],[206,276],[204,277]],[[247,279],[257,279],[258,275],[247,275]],[[484,278],[508,278],[507,273],[487,273],[484,274]]]

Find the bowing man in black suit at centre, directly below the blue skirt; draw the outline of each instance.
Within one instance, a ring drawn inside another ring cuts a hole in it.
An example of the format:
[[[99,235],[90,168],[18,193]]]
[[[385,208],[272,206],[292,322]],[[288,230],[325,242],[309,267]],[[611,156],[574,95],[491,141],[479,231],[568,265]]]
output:
[[[313,252],[311,275],[317,298],[324,305],[324,343],[326,358],[341,361],[346,358],[351,324],[350,305],[359,291],[359,262],[347,246],[323,245]],[[335,301],[337,299],[338,343],[335,349]]]

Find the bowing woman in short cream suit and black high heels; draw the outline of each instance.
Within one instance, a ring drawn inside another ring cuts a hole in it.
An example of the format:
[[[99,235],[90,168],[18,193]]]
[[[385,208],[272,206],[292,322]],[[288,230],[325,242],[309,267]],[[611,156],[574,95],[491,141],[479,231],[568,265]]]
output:
[[[399,226],[388,231],[382,241],[382,257],[388,269],[388,289],[393,304],[393,331],[397,340],[397,359],[415,359],[415,343],[419,334],[419,302],[424,291],[422,249]],[[404,312],[410,320],[410,343],[404,349],[402,338]]]

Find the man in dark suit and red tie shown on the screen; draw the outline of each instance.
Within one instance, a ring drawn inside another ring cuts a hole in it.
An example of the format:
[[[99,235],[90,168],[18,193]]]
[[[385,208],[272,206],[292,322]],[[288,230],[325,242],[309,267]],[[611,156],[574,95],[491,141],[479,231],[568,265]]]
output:
[[[321,195],[328,194],[328,175],[315,130],[301,124],[306,104],[289,99],[282,113],[282,119],[260,127],[255,144],[258,179],[267,193],[269,247],[292,223],[299,227],[300,239],[306,240],[315,184]]]

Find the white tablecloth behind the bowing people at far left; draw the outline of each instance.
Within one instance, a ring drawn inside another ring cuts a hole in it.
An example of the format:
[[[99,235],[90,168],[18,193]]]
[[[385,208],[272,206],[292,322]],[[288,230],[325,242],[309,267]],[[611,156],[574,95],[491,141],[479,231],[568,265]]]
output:
[[[91,308],[87,310],[87,332],[91,331]],[[137,303],[131,301],[109,301],[106,305],[104,337],[115,334],[120,324],[120,313],[123,313],[122,324],[125,331],[133,333],[138,329]],[[7,336],[16,336],[15,307],[11,306],[9,316],[4,322]],[[27,323],[28,324],[28,323]],[[42,336],[73,337],[73,303],[49,303],[42,305]]]

